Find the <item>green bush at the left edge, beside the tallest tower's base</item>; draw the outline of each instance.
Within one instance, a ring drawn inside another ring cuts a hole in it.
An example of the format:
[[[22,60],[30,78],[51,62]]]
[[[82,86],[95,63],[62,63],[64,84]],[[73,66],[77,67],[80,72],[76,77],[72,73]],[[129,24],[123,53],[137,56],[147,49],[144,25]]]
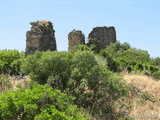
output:
[[[20,74],[22,53],[17,50],[0,51],[0,74]]]

